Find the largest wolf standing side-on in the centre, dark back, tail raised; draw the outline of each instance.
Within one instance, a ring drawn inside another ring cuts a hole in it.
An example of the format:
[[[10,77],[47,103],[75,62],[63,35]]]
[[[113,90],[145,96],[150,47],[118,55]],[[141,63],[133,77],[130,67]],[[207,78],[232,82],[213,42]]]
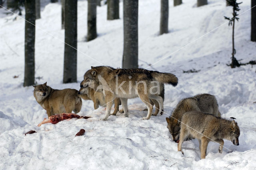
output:
[[[120,98],[124,114],[128,116],[127,99],[136,97],[139,97],[148,108],[148,114],[143,119],[149,119],[153,109],[152,104],[150,104],[150,99],[152,102],[158,102],[158,112],[162,112],[163,98],[160,96],[160,92],[163,90],[163,84],[167,83],[173,86],[178,84],[178,78],[171,73],[161,73],[141,68],[114,69],[106,66],[98,66],[92,67],[92,69],[84,74],[84,80],[81,82],[81,85],[83,88],[90,87],[96,90],[98,86],[102,85],[100,84],[100,80],[104,80],[108,87],[107,89],[103,89],[107,103],[106,114],[103,120],[108,119],[112,106],[111,101],[114,98]],[[117,88],[116,90],[116,86],[121,86],[122,89]],[[155,86],[159,86],[158,91],[156,91],[157,89],[155,89],[155,91],[152,90]],[[150,92],[150,88],[152,88],[152,92]]]

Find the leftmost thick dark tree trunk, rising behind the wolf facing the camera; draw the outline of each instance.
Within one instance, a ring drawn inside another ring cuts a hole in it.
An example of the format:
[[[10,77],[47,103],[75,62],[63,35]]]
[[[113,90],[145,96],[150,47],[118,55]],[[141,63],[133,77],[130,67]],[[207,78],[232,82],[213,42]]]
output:
[[[31,86],[35,80],[35,0],[25,0],[25,12],[25,71],[23,86]]]

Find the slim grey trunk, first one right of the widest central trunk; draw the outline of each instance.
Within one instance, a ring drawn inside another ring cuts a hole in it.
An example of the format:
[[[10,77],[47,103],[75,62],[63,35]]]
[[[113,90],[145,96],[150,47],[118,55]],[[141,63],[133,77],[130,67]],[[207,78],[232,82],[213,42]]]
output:
[[[161,0],[160,35],[168,33],[169,0]]]

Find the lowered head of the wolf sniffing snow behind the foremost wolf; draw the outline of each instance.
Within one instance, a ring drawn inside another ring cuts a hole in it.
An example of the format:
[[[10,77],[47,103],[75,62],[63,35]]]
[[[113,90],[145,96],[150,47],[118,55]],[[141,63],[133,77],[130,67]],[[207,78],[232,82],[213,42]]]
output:
[[[174,118],[166,118],[167,128],[172,135],[172,140],[179,143],[180,137],[180,122]]]

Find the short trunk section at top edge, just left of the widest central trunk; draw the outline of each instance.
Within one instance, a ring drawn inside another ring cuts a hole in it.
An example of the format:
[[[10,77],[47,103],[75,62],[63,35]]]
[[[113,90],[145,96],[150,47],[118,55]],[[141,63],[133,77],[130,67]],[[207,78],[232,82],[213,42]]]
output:
[[[119,19],[119,0],[108,0],[107,20]]]

